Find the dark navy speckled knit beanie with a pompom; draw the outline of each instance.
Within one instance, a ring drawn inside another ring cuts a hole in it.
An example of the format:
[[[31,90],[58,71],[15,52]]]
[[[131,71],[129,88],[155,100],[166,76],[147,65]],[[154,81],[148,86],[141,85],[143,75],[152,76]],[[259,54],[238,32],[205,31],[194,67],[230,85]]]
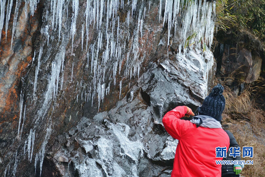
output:
[[[226,100],[223,96],[223,86],[221,84],[213,87],[211,93],[204,99],[198,112],[201,115],[208,115],[218,121],[222,120],[222,113],[225,108]]]

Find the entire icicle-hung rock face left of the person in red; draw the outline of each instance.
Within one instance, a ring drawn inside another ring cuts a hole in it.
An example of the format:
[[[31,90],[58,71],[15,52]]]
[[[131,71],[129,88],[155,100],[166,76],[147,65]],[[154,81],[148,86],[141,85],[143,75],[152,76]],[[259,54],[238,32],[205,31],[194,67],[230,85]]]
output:
[[[2,2],[0,175],[170,176],[162,118],[207,95],[215,2]]]

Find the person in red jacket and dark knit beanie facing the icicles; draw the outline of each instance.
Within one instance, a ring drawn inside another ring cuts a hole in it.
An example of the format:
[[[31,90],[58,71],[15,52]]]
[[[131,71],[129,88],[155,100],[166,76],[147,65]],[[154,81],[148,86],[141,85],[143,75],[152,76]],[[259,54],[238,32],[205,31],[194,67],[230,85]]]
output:
[[[223,157],[216,158],[216,148],[226,147],[227,152],[229,147],[229,137],[219,122],[225,107],[222,93],[222,85],[213,87],[197,116],[191,108],[178,106],[163,117],[165,130],[179,140],[171,177],[221,177],[216,160]],[[190,115],[194,116],[190,121],[180,119]]]

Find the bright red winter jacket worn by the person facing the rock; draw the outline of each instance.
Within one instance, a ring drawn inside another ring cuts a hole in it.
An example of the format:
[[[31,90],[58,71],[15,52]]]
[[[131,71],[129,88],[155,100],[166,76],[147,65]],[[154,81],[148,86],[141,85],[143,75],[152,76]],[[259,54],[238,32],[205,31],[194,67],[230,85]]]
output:
[[[187,113],[178,106],[163,117],[167,132],[178,139],[171,177],[221,177],[221,165],[216,165],[216,147],[229,147],[229,137],[222,128],[196,127],[180,120]]]

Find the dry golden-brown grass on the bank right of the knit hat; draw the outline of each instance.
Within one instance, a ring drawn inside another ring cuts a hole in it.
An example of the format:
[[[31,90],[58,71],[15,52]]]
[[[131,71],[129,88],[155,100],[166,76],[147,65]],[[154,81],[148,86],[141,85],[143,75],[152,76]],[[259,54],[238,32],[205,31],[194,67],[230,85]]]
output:
[[[253,165],[245,165],[241,175],[244,177],[265,177],[265,112],[255,105],[256,90],[249,85],[238,96],[225,86],[233,78],[225,78],[223,82],[215,80],[216,84],[224,86],[223,95],[226,107],[223,113],[223,125],[233,133],[240,148],[253,147],[253,158],[242,157],[241,160],[253,160]],[[241,149],[242,150],[242,149]]]

